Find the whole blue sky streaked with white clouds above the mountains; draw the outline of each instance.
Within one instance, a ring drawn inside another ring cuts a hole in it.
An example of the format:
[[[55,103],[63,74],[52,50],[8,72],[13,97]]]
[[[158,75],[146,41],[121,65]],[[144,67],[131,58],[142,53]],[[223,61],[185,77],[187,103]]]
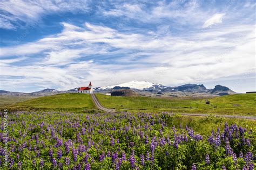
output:
[[[0,0],[0,89],[256,90],[255,1]]]

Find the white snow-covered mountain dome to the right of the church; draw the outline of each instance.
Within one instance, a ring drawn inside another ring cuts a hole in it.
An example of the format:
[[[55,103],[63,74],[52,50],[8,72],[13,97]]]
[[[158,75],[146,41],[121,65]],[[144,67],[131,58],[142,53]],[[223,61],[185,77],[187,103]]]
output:
[[[126,83],[116,84],[116,85],[113,85],[113,86],[103,86],[103,87],[99,87],[97,89],[101,89],[101,90],[112,89],[116,86],[130,87],[131,89],[143,90],[143,89],[150,88],[150,87],[153,87],[153,86],[163,86],[163,85],[157,84],[157,83],[152,83],[152,82],[149,82],[149,81],[129,81],[129,82],[126,82]]]

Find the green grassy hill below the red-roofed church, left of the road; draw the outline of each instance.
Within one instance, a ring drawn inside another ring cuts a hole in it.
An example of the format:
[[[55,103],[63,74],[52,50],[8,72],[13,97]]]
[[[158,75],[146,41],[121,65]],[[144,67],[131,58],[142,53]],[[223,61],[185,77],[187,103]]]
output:
[[[10,105],[10,109],[14,110],[40,109],[80,111],[92,108],[94,108],[94,105],[89,94],[58,94],[38,97]]]

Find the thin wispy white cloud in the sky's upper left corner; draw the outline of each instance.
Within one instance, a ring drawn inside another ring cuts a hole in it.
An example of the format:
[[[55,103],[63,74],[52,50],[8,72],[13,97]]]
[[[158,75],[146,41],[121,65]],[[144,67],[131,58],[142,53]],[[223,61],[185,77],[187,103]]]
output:
[[[15,29],[17,22],[25,24],[37,22],[42,15],[52,12],[87,11],[87,1],[54,1],[54,0],[7,0],[0,1],[0,28]]]

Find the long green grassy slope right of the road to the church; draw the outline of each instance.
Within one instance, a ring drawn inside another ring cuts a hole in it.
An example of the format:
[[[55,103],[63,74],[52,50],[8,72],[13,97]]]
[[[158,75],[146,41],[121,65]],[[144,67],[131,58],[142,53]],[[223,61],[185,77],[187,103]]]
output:
[[[96,95],[107,108],[127,111],[173,111],[184,113],[230,114],[256,116],[256,94],[235,94],[205,99],[166,99]]]

